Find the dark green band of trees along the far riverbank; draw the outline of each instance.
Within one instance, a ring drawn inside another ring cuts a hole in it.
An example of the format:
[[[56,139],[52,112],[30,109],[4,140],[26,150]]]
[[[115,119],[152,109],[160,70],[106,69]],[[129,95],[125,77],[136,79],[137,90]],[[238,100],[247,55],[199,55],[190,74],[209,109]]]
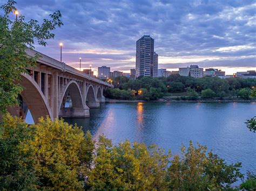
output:
[[[256,90],[256,79],[205,76],[194,78],[172,74],[169,77],[138,77],[133,80],[125,76],[113,78],[113,89],[107,89],[107,98],[119,100],[250,100]]]

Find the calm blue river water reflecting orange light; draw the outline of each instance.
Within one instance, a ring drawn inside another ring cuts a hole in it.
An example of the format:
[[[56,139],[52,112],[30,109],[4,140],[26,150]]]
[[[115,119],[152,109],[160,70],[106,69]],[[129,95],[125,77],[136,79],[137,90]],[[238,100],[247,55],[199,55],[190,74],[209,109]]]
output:
[[[90,118],[65,121],[90,130],[97,139],[104,134],[116,144],[136,140],[156,143],[173,154],[181,144],[207,145],[228,164],[242,162],[242,172],[256,173],[256,133],[246,119],[256,116],[256,103],[138,102],[106,103],[90,109]]]

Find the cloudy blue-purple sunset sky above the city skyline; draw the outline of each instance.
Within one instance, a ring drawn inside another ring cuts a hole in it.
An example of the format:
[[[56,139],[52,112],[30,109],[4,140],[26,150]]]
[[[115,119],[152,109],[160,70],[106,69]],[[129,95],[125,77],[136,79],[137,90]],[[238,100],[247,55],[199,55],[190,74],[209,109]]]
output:
[[[0,4],[6,1],[0,0]],[[46,47],[36,50],[79,69],[106,65],[129,72],[135,67],[136,41],[154,39],[158,68],[191,64],[232,74],[256,70],[256,1],[250,0],[16,0],[26,19],[42,22],[53,11],[63,26]]]

